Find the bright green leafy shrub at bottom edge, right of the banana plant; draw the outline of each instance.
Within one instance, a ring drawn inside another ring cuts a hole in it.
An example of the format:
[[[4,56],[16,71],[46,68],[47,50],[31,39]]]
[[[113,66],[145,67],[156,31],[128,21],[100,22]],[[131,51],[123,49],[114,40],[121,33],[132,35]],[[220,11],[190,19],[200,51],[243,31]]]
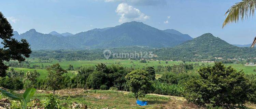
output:
[[[60,101],[56,99],[52,94],[48,96],[44,103],[45,109],[61,109]]]

